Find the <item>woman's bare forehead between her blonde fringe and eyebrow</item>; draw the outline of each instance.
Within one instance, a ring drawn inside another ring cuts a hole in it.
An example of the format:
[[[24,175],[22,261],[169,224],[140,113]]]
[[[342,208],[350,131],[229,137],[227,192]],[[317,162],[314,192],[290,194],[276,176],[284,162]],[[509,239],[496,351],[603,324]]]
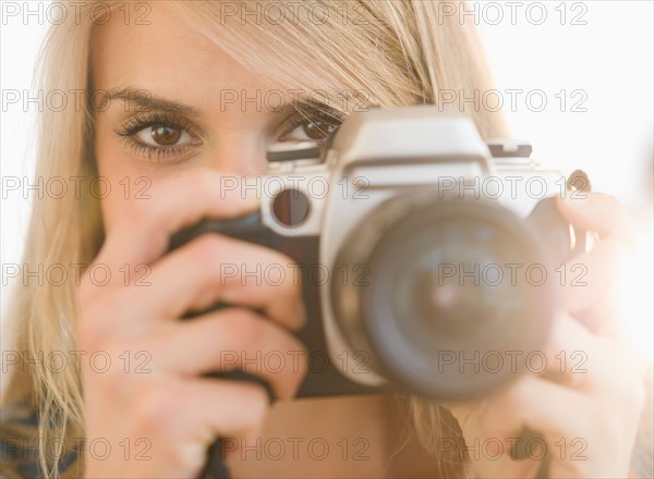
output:
[[[265,89],[275,85],[231,59],[164,3],[153,2],[149,24],[112,15],[95,25],[92,40],[94,87],[135,85],[159,95],[179,96],[193,105],[220,98],[226,90]]]

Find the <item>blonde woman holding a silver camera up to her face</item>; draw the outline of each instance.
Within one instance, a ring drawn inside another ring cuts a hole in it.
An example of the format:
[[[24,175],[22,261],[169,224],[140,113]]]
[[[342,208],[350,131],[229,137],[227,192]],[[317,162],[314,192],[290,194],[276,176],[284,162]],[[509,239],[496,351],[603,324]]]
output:
[[[257,208],[256,198],[217,188],[221,179],[263,174],[272,142],[322,145],[356,108],[491,88],[470,24],[439,17],[437,2],[284,5],[86,2],[74,21],[51,28],[44,90],[85,90],[90,99],[44,112],[37,175],[86,183],[80,195],[35,201],[25,262],[85,272],[60,285],[27,282],[13,305],[16,351],[26,354],[3,407],[5,474],[196,477],[215,439],[233,438],[227,463],[234,477],[534,477],[537,457],[471,449],[497,443],[489,439],[507,444],[529,428],[550,451],[552,477],[626,476],[644,369],[621,340],[608,294],[630,224],[603,195],[557,202],[572,224],[603,240],[576,258],[586,263],[590,286],[565,292],[546,349],[550,365],[557,352],[585,352],[588,373],[529,374],[449,409],[383,395],[269,408],[255,384],[201,379],[220,368],[223,349],[301,349],[291,332],[305,321],[290,281],[230,284],[218,274],[234,258],[287,265],[277,251],[213,235],[166,254],[183,226]],[[271,108],[280,105],[267,95],[274,90],[294,108]],[[307,101],[317,91],[322,108]],[[484,137],[508,136],[499,113],[465,113]],[[234,307],[178,320],[218,300]],[[61,352],[77,352],[78,367],[29,363]],[[263,376],[286,400],[304,372]],[[34,433],[33,423],[38,457],[33,442],[19,440]],[[251,453],[253,444],[266,451],[271,438],[298,445],[298,454]],[[332,453],[304,447],[316,438]]]

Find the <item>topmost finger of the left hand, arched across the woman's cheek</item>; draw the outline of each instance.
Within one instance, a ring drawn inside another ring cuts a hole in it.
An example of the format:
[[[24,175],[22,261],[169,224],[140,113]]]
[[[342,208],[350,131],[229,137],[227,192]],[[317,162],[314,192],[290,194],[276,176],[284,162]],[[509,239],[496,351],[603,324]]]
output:
[[[259,205],[257,192],[222,188],[225,173],[194,172],[162,181],[134,201],[111,225],[98,260],[112,268],[149,265],[169,247],[170,236],[204,218],[239,218]]]

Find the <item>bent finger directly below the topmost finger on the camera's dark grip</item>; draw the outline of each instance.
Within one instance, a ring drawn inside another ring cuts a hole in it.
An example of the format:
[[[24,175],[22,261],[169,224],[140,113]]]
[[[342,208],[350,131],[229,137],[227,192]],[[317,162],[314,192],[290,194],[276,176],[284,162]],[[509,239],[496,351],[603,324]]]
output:
[[[141,288],[138,309],[178,318],[223,303],[262,309],[280,324],[299,329],[305,315],[293,266],[272,249],[204,234],[155,263],[149,282],[156,287]]]

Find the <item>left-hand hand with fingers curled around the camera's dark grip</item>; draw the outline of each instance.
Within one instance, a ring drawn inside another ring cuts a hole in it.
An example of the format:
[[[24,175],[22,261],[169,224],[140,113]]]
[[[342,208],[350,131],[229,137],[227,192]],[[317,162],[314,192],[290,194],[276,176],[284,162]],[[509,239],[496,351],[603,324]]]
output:
[[[219,184],[215,172],[161,181],[150,200],[126,208],[110,228],[94,266],[108,268],[111,281],[99,286],[85,278],[78,288],[81,348],[112,361],[106,371],[82,371],[87,444],[101,439],[111,447],[104,459],[86,454],[85,477],[197,476],[216,438],[253,440],[268,408],[262,386],[202,374],[243,369],[268,381],[280,398],[293,396],[304,376],[305,365],[298,367],[291,357],[281,371],[268,371],[233,364],[234,355],[227,365],[222,355],[234,352],[242,360],[271,351],[304,351],[288,331],[304,321],[289,258],[218,234],[205,234],[164,256],[172,233],[205,217],[244,216],[258,205],[237,192],[225,198]],[[275,263],[283,268],[286,280],[243,284],[238,275],[221,278],[225,262],[247,271]],[[144,270],[149,274],[140,281]],[[149,285],[138,285],[143,283]],[[179,320],[216,303],[242,307]],[[146,368],[136,367],[144,366],[135,358],[140,352],[148,359]]]

